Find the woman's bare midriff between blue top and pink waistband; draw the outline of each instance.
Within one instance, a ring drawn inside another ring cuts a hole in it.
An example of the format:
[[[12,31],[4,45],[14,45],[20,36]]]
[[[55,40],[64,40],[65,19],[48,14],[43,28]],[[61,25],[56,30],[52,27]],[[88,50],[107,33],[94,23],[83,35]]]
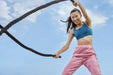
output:
[[[92,45],[92,35],[85,36],[78,40],[78,45]]]

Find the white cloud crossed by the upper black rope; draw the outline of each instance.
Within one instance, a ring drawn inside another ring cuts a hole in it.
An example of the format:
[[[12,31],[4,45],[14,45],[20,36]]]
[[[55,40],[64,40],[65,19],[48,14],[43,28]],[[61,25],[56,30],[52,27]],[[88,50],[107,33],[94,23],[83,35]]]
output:
[[[19,3],[15,3],[13,5],[14,13],[12,14],[13,17],[18,17],[19,15],[23,15],[24,13],[32,10],[33,8],[43,4],[44,0],[27,0]],[[41,14],[41,11],[38,11],[30,16],[27,17],[26,20],[30,22],[35,22],[38,15]]]

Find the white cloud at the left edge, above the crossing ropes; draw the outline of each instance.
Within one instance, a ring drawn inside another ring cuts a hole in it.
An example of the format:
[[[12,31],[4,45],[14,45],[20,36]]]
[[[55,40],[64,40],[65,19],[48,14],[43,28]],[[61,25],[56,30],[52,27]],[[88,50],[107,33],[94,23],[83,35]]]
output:
[[[9,20],[11,19],[10,7],[7,6],[7,3],[3,0],[0,1],[0,18]]]

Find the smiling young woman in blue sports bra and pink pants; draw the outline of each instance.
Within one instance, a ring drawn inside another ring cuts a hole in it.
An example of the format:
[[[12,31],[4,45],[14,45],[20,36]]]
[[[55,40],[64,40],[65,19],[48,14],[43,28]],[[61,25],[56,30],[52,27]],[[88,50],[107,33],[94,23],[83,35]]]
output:
[[[67,20],[67,32],[70,30],[68,41],[66,45],[56,53],[54,58],[58,58],[61,53],[69,48],[75,36],[78,40],[78,46],[75,48],[73,57],[65,67],[62,75],[72,75],[81,65],[85,65],[91,72],[91,75],[101,75],[96,53],[92,45],[93,34],[91,19],[80,2],[75,1],[73,5],[79,6],[86,20],[85,22],[81,20],[82,15],[78,9],[75,8],[71,11],[70,17]]]

